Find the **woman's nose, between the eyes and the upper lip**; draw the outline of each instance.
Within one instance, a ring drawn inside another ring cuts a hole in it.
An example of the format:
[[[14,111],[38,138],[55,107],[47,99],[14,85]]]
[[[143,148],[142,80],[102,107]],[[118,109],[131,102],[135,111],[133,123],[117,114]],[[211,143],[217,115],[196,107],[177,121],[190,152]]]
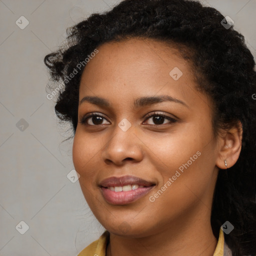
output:
[[[141,161],[143,157],[142,144],[132,126],[126,131],[116,126],[102,151],[102,158],[106,164],[116,165],[123,165],[126,161]]]

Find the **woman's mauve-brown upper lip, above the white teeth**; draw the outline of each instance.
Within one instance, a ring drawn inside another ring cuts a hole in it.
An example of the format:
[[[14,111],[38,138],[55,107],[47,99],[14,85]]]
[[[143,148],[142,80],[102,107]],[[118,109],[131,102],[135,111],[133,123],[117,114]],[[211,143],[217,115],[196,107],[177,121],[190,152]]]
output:
[[[103,187],[108,187],[108,186],[125,186],[129,184],[137,184],[137,185],[142,185],[142,186],[151,186],[155,185],[155,183],[144,180],[139,177],[131,176],[131,175],[126,175],[126,176],[121,176],[121,177],[109,177],[106,179],[103,179],[99,185]]]

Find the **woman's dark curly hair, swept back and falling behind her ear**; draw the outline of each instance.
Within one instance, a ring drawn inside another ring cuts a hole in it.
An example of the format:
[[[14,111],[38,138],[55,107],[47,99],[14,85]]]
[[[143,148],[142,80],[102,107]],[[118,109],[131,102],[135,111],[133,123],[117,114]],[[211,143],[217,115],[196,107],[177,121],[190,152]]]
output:
[[[218,239],[220,226],[234,229],[225,236],[233,256],[256,254],[256,93],[255,62],[244,37],[212,7],[192,0],[123,0],[111,10],[93,13],[67,28],[67,41],[45,56],[51,80],[63,82],[55,112],[60,120],[77,125],[78,90],[84,62],[96,47],[128,38],[152,38],[178,49],[194,68],[198,90],[214,102],[212,127],[242,124],[242,148],[237,162],[218,173],[211,212],[211,227]],[[84,65],[86,66],[86,65]],[[67,79],[76,69],[72,79]]]

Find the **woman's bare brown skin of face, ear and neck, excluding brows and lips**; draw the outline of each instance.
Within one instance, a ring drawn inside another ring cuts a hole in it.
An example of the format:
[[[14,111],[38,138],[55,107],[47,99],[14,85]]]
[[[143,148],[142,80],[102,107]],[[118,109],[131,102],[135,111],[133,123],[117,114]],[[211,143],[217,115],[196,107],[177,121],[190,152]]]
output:
[[[175,48],[153,39],[129,39],[104,43],[98,50],[82,73],[79,102],[98,96],[110,105],[79,104],[73,163],[90,209],[110,232],[106,255],[212,256],[217,243],[210,225],[216,177],[219,168],[225,169],[224,159],[228,167],[236,162],[241,131],[232,127],[213,137],[212,102],[195,89],[193,68]],[[174,67],[183,73],[178,80],[169,75]],[[164,101],[133,108],[138,97],[163,94],[185,105]],[[152,116],[143,117],[154,111],[176,122],[165,118],[157,126]],[[81,123],[90,112],[104,118]],[[123,118],[131,124],[127,131],[118,126]],[[149,201],[197,151],[200,156]],[[123,175],[155,186],[129,204],[106,202],[99,182]]]

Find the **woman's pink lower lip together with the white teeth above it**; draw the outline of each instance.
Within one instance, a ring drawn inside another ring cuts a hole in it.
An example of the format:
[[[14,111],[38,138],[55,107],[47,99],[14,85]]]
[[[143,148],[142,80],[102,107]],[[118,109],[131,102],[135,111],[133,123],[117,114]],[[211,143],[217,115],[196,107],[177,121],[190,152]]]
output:
[[[144,196],[151,190],[154,186],[138,187],[137,189],[130,191],[120,191],[115,192],[108,188],[101,187],[101,192],[104,199],[111,204],[126,204],[134,202],[138,198]]]

